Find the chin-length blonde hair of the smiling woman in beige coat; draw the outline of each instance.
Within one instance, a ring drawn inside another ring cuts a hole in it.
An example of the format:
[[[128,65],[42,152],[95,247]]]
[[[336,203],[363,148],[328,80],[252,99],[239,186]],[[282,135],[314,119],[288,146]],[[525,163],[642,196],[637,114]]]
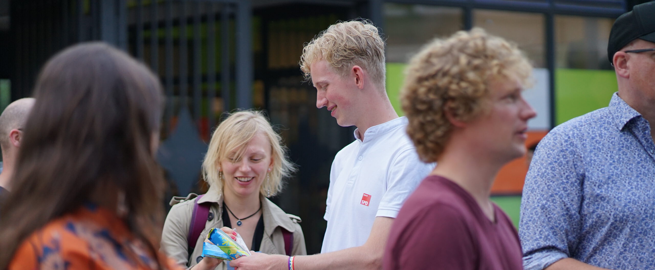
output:
[[[219,177],[219,163],[227,160],[230,153],[236,153],[234,159],[241,159],[248,142],[260,132],[271,142],[273,166],[269,177],[261,184],[259,193],[265,197],[272,197],[282,191],[284,186],[282,178],[291,176],[295,167],[286,155],[286,147],[282,145],[280,134],[273,130],[271,123],[261,111],[254,110],[232,113],[218,125],[202,162],[204,180],[218,187],[219,192],[222,193],[223,179]]]

